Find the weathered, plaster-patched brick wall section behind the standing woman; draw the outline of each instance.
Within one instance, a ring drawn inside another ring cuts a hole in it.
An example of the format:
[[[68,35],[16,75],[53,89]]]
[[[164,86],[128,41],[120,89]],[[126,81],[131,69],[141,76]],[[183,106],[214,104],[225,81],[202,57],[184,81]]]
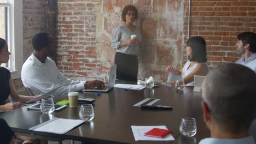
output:
[[[181,67],[184,1],[179,0],[60,0],[57,18],[57,65],[71,79],[108,81],[115,50],[110,47],[121,10],[138,8],[136,25],[144,41],[139,56],[139,75],[166,81],[166,66]]]

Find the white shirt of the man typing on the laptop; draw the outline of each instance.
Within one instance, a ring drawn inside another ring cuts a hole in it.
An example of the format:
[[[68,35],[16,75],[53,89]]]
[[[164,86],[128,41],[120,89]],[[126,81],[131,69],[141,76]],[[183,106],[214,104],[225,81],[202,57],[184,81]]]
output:
[[[25,87],[35,95],[49,92],[51,89],[66,83],[52,93],[56,97],[67,96],[69,92],[84,89],[85,81],[67,79],[58,69],[53,59],[47,57],[45,63],[40,62],[32,53],[22,66],[21,80]]]

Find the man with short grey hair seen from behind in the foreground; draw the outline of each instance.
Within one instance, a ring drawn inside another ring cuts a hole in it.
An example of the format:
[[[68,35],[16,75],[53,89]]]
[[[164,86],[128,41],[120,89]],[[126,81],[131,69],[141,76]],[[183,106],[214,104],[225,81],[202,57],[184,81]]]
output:
[[[255,143],[248,130],[255,116],[256,74],[235,63],[220,65],[202,85],[203,119],[211,138],[199,143]]]

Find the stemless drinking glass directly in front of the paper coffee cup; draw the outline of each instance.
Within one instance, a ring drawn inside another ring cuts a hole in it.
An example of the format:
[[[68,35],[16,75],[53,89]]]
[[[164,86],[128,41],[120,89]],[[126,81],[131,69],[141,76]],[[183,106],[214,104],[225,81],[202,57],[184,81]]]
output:
[[[91,104],[81,105],[79,117],[84,121],[91,121],[94,118],[94,107]]]

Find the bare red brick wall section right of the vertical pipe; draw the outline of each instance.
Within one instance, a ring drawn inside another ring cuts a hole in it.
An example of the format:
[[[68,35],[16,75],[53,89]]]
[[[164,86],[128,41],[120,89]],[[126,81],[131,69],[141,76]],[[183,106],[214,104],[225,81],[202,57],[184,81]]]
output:
[[[188,37],[188,4],[186,0],[184,41]],[[256,1],[193,0],[190,20],[190,37],[201,35],[206,39],[208,65],[235,62],[238,58],[235,48],[237,34],[256,32]]]

